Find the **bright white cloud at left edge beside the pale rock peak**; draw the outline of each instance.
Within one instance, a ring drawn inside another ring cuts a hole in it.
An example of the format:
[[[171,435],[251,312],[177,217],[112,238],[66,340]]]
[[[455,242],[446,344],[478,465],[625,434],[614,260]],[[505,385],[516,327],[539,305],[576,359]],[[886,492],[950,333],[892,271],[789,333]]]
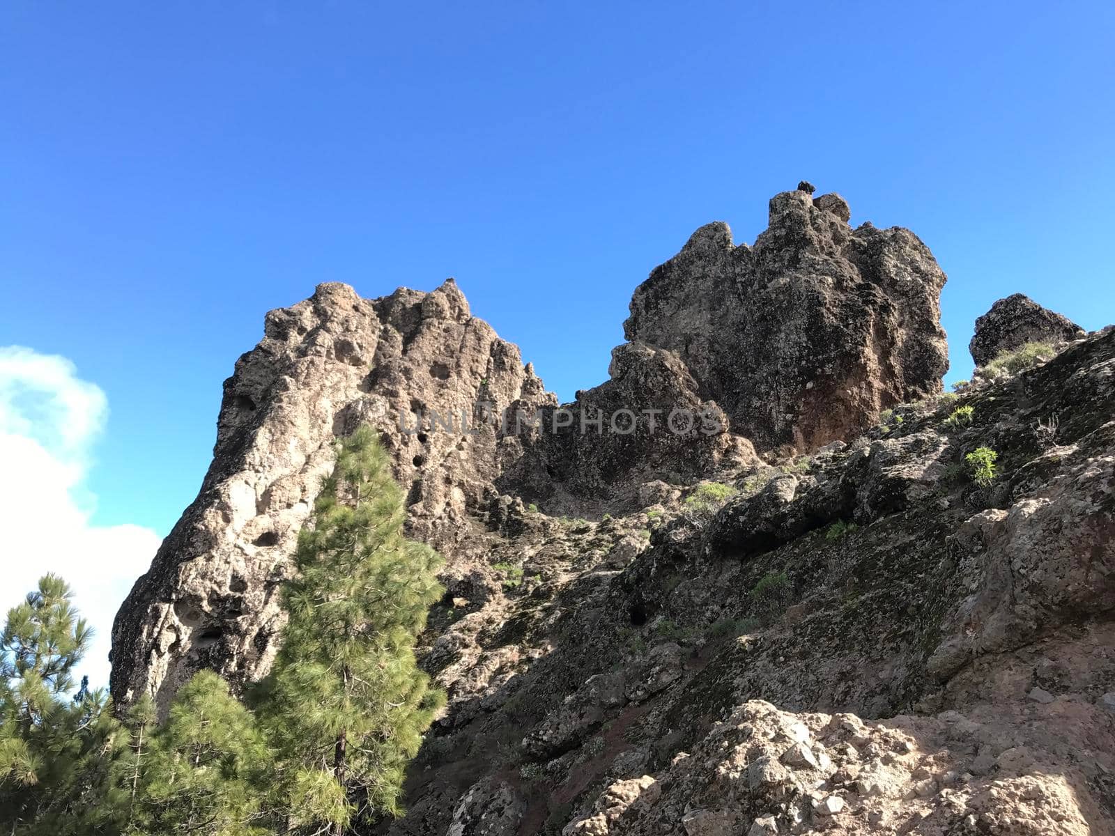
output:
[[[78,675],[108,684],[113,618],[151,564],[159,537],[138,525],[90,523],[90,450],[105,393],[64,357],[0,348],[0,571],[7,612],[47,572],[65,577],[96,634]]]

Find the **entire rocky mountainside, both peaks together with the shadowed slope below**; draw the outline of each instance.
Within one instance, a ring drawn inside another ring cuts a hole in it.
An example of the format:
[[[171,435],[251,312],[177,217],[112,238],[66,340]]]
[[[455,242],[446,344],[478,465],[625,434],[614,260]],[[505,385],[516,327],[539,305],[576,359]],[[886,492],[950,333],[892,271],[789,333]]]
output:
[[[1115,333],[940,395],[943,274],[849,216],[799,189],[754,247],[699,230],[572,405],[452,282],[268,314],[117,616],[114,694],[266,669],[330,443],[371,421],[448,590],[449,703],[380,832],[1115,833]],[[508,407],[541,424],[484,421]],[[678,407],[719,429],[651,431]]]

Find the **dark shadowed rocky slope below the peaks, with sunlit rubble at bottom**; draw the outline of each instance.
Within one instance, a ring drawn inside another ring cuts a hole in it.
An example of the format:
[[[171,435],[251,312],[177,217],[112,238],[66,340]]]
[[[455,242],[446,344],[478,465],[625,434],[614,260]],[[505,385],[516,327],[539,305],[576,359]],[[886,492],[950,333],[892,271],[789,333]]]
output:
[[[527,514],[523,585],[435,607],[449,708],[372,832],[1115,833],[1113,369],[1108,332],[902,406],[706,519]]]

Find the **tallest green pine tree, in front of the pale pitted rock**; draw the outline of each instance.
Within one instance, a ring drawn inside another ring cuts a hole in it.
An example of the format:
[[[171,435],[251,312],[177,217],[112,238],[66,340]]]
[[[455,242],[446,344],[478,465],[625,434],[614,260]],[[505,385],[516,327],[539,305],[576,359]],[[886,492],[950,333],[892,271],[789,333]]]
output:
[[[388,457],[361,427],[339,444],[299,536],[289,621],[261,690],[295,830],[399,815],[406,765],[444,702],[414,653],[443,593],[440,558],[403,536],[404,516]]]

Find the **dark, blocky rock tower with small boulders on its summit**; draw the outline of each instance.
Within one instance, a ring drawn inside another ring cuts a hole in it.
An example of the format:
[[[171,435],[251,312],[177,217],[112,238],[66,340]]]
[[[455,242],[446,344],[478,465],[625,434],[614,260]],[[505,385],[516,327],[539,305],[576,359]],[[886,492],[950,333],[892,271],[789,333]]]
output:
[[[850,217],[799,188],[770,200],[754,246],[702,226],[636,290],[627,338],[677,352],[759,449],[813,450],[940,391],[944,273],[908,230]]]

